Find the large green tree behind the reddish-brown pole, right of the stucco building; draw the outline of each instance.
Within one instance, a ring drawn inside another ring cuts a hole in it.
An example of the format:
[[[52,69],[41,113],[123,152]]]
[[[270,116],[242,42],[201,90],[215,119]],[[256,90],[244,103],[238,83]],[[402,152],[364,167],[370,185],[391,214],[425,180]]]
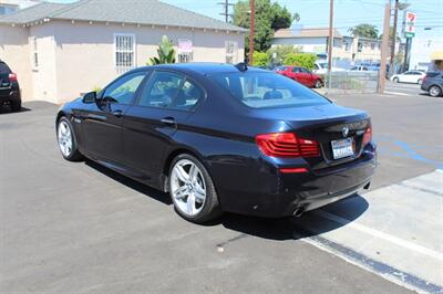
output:
[[[256,25],[254,50],[266,52],[271,44],[276,30],[289,28],[292,21],[300,19],[298,13],[291,14],[286,7],[271,3],[270,0],[256,0]],[[234,6],[234,24],[249,29],[250,4],[240,0]],[[249,33],[245,38],[245,52],[249,52]]]

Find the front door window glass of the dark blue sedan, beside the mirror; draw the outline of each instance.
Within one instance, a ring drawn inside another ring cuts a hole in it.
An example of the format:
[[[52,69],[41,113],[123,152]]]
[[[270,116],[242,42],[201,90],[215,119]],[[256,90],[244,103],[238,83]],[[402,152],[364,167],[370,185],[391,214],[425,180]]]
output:
[[[104,91],[103,99],[120,104],[131,104],[145,74],[145,72],[136,72],[122,76]]]

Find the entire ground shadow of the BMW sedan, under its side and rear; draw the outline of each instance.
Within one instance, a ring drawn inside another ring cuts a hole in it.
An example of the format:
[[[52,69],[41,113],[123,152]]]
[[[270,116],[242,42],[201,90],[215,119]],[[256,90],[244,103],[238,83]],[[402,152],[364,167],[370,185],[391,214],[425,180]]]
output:
[[[93,168],[94,170],[112,178],[113,180],[145,195],[148,198],[157,200],[167,206],[172,206],[173,202],[167,193],[150,188],[141,182],[137,182],[131,178],[120,175],[112,169],[103,167],[92,160],[85,160],[85,165]],[[360,195],[343,199],[341,201],[331,203],[324,208],[309,211],[303,213],[299,218],[258,218],[250,216],[241,216],[235,213],[224,213],[220,218],[206,222],[202,225],[205,227],[217,227],[223,225],[227,230],[236,231],[239,234],[235,238],[222,242],[220,246],[237,240],[254,235],[268,240],[299,240],[312,235],[318,235],[324,232],[337,230],[347,223],[343,221],[336,222],[329,220],[318,213],[318,211],[331,213],[339,217],[341,220],[352,222],[364,213],[369,208],[369,203]],[[312,230],[312,227],[315,230]]]

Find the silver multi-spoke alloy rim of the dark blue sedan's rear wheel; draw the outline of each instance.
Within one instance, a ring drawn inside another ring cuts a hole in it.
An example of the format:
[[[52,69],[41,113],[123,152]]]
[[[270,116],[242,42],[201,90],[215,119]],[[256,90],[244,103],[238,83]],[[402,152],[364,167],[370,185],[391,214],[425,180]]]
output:
[[[178,160],[171,172],[171,191],[176,208],[188,217],[198,214],[206,201],[202,170],[188,159]]]

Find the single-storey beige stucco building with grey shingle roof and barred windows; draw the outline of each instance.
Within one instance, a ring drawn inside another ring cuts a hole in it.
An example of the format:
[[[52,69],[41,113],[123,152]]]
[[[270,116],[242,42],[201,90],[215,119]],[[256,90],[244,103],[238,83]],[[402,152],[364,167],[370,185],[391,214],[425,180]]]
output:
[[[43,2],[0,18],[0,59],[24,99],[62,103],[155,56],[163,35],[181,62],[244,56],[245,30],[157,0]]]

